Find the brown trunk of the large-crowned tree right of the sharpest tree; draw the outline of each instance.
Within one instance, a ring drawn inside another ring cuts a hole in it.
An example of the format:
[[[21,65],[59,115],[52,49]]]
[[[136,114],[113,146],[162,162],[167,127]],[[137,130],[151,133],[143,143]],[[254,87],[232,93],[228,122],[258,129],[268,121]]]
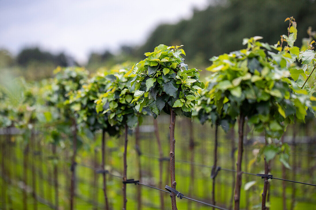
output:
[[[243,153],[243,139],[244,139],[244,124],[245,117],[240,114],[238,119],[238,156],[237,156],[237,174],[236,174],[236,184],[235,184],[235,195],[234,195],[234,210],[239,210],[240,208],[240,187],[241,187],[241,161]]]

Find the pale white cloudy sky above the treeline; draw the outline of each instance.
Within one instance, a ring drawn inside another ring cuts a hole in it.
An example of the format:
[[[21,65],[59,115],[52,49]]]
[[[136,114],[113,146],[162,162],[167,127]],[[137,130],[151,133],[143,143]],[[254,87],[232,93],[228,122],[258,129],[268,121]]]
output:
[[[142,44],[160,23],[190,18],[210,0],[0,0],[0,48],[65,51],[85,62],[91,50]]]

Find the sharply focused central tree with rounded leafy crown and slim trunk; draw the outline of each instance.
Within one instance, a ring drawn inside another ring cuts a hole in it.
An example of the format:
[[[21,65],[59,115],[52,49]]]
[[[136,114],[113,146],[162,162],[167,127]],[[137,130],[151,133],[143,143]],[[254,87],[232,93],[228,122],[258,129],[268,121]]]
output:
[[[175,181],[175,138],[174,127],[176,115],[184,114],[191,118],[194,105],[197,103],[198,89],[204,88],[199,81],[199,73],[195,68],[189,69],[183,62],[185,55],[181,46],[159,45],[154,52],[145,53],[146,58],[126,73],[135,74],[131,86],[135,87],[133,102],[137,111],[148,107],[156,118],[161,111],[170,114],[170,178],[171,187],[176,189]],[[171,193],[172,209],[176,210],[176,195]]]

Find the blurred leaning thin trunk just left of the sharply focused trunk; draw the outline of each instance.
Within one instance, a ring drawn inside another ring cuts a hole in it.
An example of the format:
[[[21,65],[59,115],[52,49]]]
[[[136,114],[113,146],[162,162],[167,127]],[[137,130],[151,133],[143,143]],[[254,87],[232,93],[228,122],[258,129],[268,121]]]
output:
[[[154,129],[155,129],[155,135],[157,139],[158,144],[158,151],[159,151],[159,189],[162,189],[162,172],[163,172],[163,153],[161,149],[161,141],[159,137],[159,130],[158,130],[158,123],[157,120],[154,119]],[[164,201],[164,193],[160,191],[160,208],[161,210],[165,209],[165,201]]]

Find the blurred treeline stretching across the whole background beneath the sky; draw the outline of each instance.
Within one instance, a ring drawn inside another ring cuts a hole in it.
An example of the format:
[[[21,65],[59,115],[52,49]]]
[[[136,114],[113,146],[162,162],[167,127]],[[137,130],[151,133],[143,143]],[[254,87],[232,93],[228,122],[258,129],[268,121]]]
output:
[[[214,55],[242,48],[245,37],[262,36],[263,42],[276,43],[287,31],[286,17],[293,16],[298,24],[296,45],[311,26],[316,28],[315,0],[215,0],[202,11],[194,10],[189,20],[158,26],[141,46],[121,46],[119,52],[91,52],[85,64],[90,72],[98,67],[111,67],[124,61],[137,61],[143,52],[152,51],[159,44],[183,44],[186,63],[203,69]],[[175,9],[181,9],[175,8]],[[172,9],[170,10],[172,12]],[[146,17],[144,17],[146,18]],[[16,57],[8,51],[0,51],[0,67],[11,74],[26,79],[42,79],[52,75],[56,66],[76,65],[76,61],[64,53],[54,55],[38,48],[24,49]]]

